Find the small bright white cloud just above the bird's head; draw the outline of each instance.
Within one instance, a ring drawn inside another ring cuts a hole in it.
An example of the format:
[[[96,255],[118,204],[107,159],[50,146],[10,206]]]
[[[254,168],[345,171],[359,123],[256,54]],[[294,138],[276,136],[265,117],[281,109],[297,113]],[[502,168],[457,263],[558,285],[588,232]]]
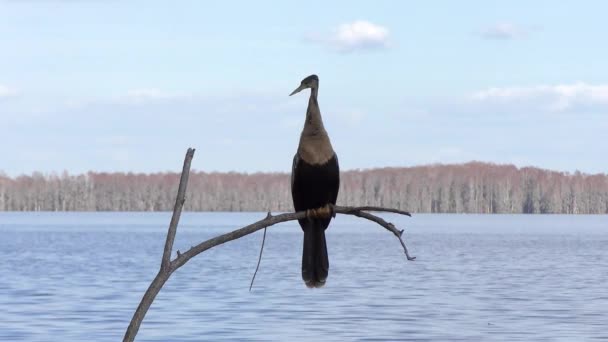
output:
[[[357,20],[338,26],[329,36],[317,34],[310,40],[339,52],[378,50],[389,47],[389,30],[365,20]]]

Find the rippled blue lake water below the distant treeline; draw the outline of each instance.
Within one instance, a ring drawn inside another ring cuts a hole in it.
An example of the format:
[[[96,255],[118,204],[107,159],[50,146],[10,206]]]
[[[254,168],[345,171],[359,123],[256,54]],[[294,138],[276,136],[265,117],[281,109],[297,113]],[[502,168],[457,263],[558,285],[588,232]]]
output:
[[[185,213],[175,246],[264,217]],[[322,289],[300,278],[302,235],[268,230],[173,274],[137,341],[608,340],[608,216],[339,216]],[[156,275],[169,213],[0,213],[0,340],[118,341]]]

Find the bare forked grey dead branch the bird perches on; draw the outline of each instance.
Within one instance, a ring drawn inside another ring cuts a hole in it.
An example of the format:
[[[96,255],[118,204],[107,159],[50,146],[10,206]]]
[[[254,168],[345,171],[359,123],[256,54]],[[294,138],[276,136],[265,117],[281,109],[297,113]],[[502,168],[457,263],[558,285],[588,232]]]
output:
[[[199,243],[198,245],[191,247],[189,250],[187,250],[184,253],[180,253],[180,251],[177,251],[177,257],[175,259],[171,260],[171,251],[173,249],[173,242],[175,240],[175,233],[177,231],[177,225],[179,223],[179,218],[181,215],[182,207],[185,202],[186,187],[188,185],[188,176],[190,174],[190,164],[192,162],[193,156],[194,156],[194,149],[189,148],[188,151],[186,152],[186,157],[184,160],[184,167],[182,170],[182,176],[180,178],[180,184],[179,184],[179,188],[177,191],[177,197],[175,199],[175,207],[173,209],[173,216],[171,217],[171,223],[169,224],[169,231],[167,232],[167,240],[165,242],[165,248],[163,250],[163,257],[161,260],[160,270],[156,274],[156,277],[154,278],[154,280],[152,280],[152,283],[150,284],[150,286],[144,293],[144,296],[142,297],[141,302],[139,303],[137,309],[135,310],[135,313],[133,314],[133,318],[131,319],[131,323],[129,324],[129,327],[127,328],[127,331],[125,332],[123,342],[132,342],[135,340],[135,336],[137,335],[141,322],[143,321],[144,316],[148,312],[148,309],[152,305],[154,298],[156,298],[156,295],[160,292],[163,285],[165,284],[165,282],[167,282],[167,280],[169,279],[171,274],[173,274],[173,272],[175,272],[178,268],[184,266],[190,259],[192,259],[193,257],[197,256],[198,254],[200,254],[210,248],[219,246],[221,244],[224,244],[224,243],[232,241],[232,240],[239,239],[245,235],[249,235],[260,229],[274,226],[277,223],[303,219],[303,218],[307,217],[307,214],[309,214],[309,213],[307,213],[307,211],[299,211],[296,213],[285,213],[285,214],[273,216],[269,212],[268,215],[260,221],[254,222],[248,226],[237,229],[235,231],[216,236],[207,241],[203,241],[203,242]],[[370,214],[370,213],[368,213],[368,211],[389,212],[389,213],[397,213],[397,214],[401,214],[401,215],[411,216],[410,213],[401,211],[401,210],[397,210],[397,209],[382,208],[382,207],[369,207],[369,206],[364,206],[364,207],[333,206],[332,209],[333,209],[333,214],[358,216],[358,217],[361,217],[361,218],[364,218],[364,219],[367,219],[367,220],[370,220],[370,221],[373,221],[373,222],[379,224],[380,226],[382,226],[389,232],[393,233],[393,235],[395,235],[399,239],[399,242],[401,243],[401,246],[403,247],[403,251],[405,252],[405,255],[408,260],[415,259],[415,257],[410,256],[410,254],[408,253],[407,247],[405,246],[405,242],[403,241],[403,238],[402,238],[403,230],[398,230],[395,227],[395,225],[393,225],[392,223],[385,221],[381,217]],[[258,266],[259,266],[259,264],[258,264]]]

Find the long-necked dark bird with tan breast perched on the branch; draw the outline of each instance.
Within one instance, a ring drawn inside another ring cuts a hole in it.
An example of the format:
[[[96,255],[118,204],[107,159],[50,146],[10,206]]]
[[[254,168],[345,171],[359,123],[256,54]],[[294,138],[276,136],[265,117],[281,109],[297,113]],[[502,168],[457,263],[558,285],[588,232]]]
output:
[[[319,77],[310,75],[289,96],[310,88],[304,128],[291,169],[291,196],[296,210],[306,210],[298,220],[304,232],[302,280],[309,288],[325,285],[329,258],[325,230],[335,216],[333,205],[340,188],[338,156],[323,126],[319,110]]]

